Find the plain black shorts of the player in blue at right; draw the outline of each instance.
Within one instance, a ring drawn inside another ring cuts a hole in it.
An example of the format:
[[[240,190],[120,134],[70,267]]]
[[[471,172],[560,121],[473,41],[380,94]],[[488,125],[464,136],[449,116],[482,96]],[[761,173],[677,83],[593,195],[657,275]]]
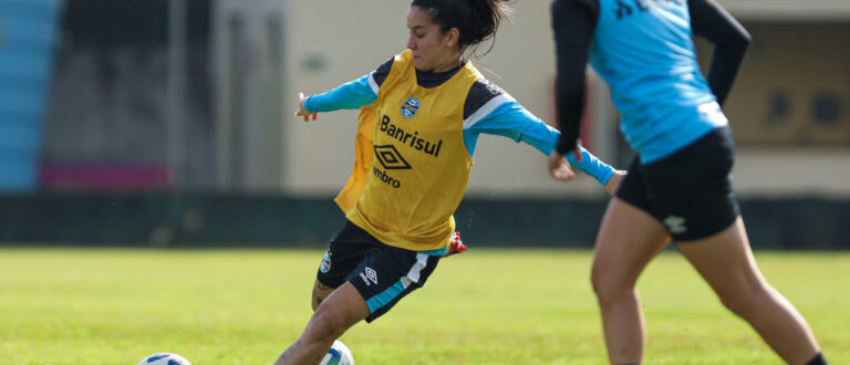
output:
[[[616,197],[661,221],[676,241],[711,237],[740,215],[729,173],[729,128],[717,128],[659,161],[632,160]]]

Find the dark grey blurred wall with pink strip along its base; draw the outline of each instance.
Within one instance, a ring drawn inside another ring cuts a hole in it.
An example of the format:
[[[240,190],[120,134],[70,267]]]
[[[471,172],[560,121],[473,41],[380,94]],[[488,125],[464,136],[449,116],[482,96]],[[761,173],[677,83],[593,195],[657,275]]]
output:
[[[209,18],[209,0],[64,0],[42,189],[214,181]]]

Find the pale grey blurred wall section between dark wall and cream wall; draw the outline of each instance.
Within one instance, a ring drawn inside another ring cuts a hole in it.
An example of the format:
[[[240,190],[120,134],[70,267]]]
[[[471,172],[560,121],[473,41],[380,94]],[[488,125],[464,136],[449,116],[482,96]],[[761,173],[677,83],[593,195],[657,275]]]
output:
[[[281,187],[282,85],[287,77],[281,0],[218,0],[212,14],[216,170],[219,188]],[[288,109],[288,108],[287,108]]]

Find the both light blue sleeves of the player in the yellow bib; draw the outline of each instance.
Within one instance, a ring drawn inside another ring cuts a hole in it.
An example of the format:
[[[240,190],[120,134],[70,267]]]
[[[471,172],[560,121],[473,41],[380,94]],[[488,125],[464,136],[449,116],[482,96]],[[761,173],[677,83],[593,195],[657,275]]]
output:
[[[372,74],[348,82],[326,93],[312,95],[304,101],[304,108],[311,113],[332,112],[338,109],[356,109],[377,100],[380,86]],[[493,134],[527,143],[545,155],[554,149],[560,132],[550,127],[540,118],[528,112],[507,93],[491,98],[464,119],[464,143],[469,156],[475,152],[475,145],[480,134]],[[614,169],[580,146],[581,163],[577,163],[572,154],[567,160],[576,168],[605,185],[614,174]]]

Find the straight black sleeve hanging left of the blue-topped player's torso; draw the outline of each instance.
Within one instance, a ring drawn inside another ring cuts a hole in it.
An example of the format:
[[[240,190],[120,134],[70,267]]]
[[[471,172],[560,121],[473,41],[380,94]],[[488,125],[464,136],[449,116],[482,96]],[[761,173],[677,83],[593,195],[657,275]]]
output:
[[[557,63],[558,139],[556,152],[567,155],[576,150],[581,115],[584,112],[588,50],[597,25],[599,2],[595,0],[552,1]]]

